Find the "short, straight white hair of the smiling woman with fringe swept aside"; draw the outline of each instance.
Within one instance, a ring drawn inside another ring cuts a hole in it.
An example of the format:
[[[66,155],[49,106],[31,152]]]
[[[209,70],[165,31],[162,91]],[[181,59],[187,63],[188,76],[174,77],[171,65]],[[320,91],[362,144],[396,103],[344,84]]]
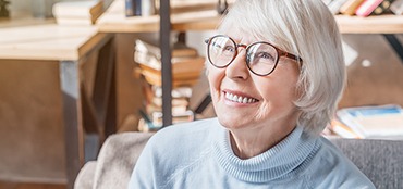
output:
[[[321,0],[237,0],[218,28],[233,29],[302,58],[297,124],[319,135],[333,117],[346,80],[341,36],[328,8]]]

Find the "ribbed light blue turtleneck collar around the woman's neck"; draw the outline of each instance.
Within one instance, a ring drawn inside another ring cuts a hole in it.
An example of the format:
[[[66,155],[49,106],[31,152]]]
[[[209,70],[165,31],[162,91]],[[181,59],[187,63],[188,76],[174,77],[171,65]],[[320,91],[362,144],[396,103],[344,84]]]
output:
[[[219,164],[235,178],[248,182],[267,182],[283,177],[304,161],[309,161],[318,149],[316,140],[306,137],[302,127],[296,127],[268,151],[241,160],[231,149],[229,131],[225,128],[220,128],[217,137],[215,155]]]

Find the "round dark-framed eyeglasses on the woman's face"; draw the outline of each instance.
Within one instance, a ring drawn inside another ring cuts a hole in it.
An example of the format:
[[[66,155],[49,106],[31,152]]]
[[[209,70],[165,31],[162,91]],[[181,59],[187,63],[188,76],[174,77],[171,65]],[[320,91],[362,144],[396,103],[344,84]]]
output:
[[[209,62],[218,67],[223,68],[232,63],[237,55],[237,48],[246,49],[246,65],[249,71],[258,76],[271,74],[281,56],[296,60],[300,64],[302,59],[297,55],[285,52],[271,43],[259,41],[249,46],[236,43],[232,38],[224,35],[217,35],[206,39],[207,56]]]

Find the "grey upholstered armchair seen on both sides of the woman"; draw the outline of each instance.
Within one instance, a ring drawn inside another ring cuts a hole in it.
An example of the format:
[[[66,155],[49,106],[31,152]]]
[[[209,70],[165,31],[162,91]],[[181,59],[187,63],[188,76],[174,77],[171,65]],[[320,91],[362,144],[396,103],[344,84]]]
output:
[[[152,134],[124,133],[109,137],[97,161],[81,169],[75,189],[125,189],[139,153]],[[403,141],[330,139],[379,189],[403,188]]]

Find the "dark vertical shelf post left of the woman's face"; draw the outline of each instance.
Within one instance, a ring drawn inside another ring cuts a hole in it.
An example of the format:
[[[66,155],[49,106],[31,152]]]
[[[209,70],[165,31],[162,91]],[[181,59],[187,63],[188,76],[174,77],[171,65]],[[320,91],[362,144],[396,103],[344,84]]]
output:
[[[162,124],[168,126],[172,124],[172,65],[171,65],[171,16],[170,0],[160,0],[160,48],[162,63]]]

